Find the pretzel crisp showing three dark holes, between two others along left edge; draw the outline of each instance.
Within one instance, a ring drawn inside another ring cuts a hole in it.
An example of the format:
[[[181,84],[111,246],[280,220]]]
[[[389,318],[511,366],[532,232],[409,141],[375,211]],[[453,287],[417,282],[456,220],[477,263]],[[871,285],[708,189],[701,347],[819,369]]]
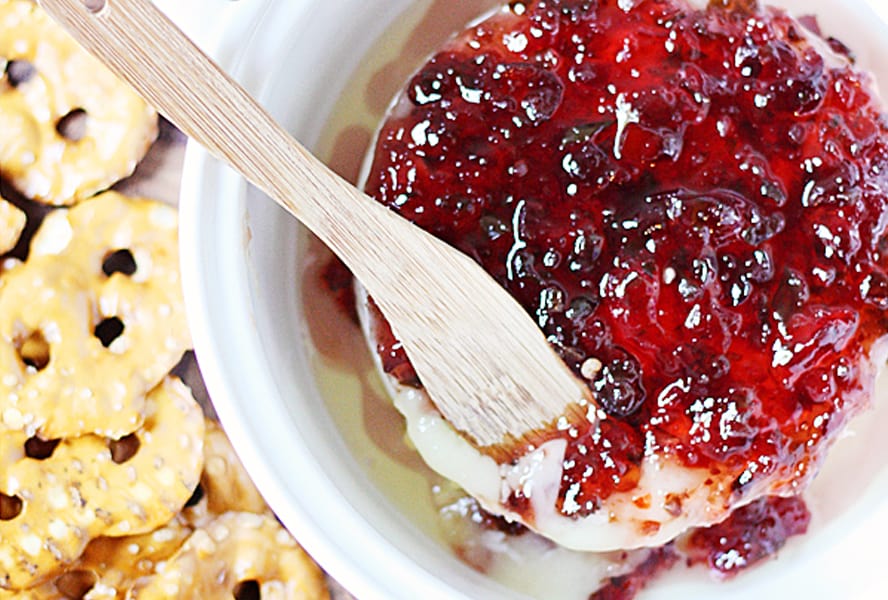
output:
[[[47,216],[0,281],[0,425],[45,439],[139,426],[190,344],[176,223],[115,192]]]

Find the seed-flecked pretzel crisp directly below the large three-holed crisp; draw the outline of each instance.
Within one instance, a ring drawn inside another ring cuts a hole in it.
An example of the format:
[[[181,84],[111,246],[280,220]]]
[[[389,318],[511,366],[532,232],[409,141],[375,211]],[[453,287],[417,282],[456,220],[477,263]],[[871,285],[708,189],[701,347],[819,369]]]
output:
[[[146,408],[144,425],[119,441],[85,435],[52,448],[0,433],[0,587],[32,586],[91,539],[149,532],[181,510],[203,462],[201,409],[172,377]]]

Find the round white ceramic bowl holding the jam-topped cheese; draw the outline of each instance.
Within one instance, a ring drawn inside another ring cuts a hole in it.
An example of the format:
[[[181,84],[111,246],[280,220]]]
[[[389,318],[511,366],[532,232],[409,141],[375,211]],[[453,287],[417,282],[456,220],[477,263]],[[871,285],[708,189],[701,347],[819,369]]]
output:
[[[199,0],[186,15],[173,2],[160,2],[310,147],[332,112],[348,113],[348,105],[336,101],[352,74],[366,71],[364,57],[399,43],[376,44],[379,36],[409,7],[430,3]],[[458,27],[489,2],[445,4],[451,8],[439,18],[453,23],[439,23],[444,29]],[[888,27],[863,2],[783,4],[808,11],[831,7],[824,28],[847,40],[888,83],[888,48],[879,42],[888,39]],[[415,21],[403,23],[410,28]],[[359,446],[341,427],[344,417],[324,398],[330,392],[322,393],[326,386],[312,366],[317,356],[306,343],[298,277],[302,237],[272,202],[199,148],[189,148],[181,244],[194,343],[219,416],[259,488],[306,548],[362,600],[525,597],[458,561],[421,519],[402,510],[398,490],[381,489],[386,463],[355,451]],[[888,442],[879,425],[888,424],[886,412],[883,406],[856,424],[857,441],[836,448],[812,492],[811,533],[778,560],[727,584],[668,576],[643,597],[884,597],[888,467],[882,457]]]

